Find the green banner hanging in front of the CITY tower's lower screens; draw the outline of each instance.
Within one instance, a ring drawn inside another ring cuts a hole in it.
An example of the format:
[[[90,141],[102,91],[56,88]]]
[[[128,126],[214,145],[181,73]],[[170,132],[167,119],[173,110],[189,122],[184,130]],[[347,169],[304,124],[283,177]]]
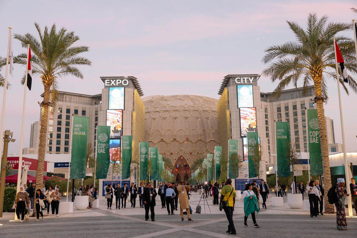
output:
[[[259,173],[259,144],[258,144],[258,132],[248,131],[247,132],[247,142],[248,142],[248,171],[249,178],[258,177]]]

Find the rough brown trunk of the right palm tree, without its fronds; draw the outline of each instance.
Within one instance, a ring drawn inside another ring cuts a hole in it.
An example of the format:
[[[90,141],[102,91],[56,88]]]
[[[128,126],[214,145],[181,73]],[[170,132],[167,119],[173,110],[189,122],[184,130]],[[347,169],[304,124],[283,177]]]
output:
[[[320,133],[321,154],[322,154],[322,167],[323,167],[323,189],[326,191],[324,197],[325,213],[335,213],[333,205],[328,202],[327,191],[331,188],[331,171],[330,171],[330,158],[328,157],[328,145],[326,135],[326,121],[325,113],[323,111],[323,100],[321,91],[321,78],[322,76],[313,77],[315,86],[316,108],[317,108],[317,120],[318,130]]]

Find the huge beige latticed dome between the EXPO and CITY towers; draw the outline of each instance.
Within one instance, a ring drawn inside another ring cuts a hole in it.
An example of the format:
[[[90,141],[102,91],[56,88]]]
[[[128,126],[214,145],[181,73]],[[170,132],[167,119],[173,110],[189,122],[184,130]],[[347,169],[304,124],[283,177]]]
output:
[[[196,95],[152,96],[145,105],[144,141],[157,147],[172,160],[177,173],[191,176],[190,164],[218,145],[217,103],[215,98]]]

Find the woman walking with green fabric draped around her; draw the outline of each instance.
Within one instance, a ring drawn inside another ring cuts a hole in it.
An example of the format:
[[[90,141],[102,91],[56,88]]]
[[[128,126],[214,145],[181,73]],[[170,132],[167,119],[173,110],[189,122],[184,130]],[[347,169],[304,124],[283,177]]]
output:
[[[243,201],[244,201],[244,226],[247,227],[247,219],[249,214],[252,215],[254,227],[259,227],[255,220],[255,211],[257,211],[257,214],[259,212],[259,207],[258,207],[258,199],[255,196],[254,192],[252,191],[252,184],[248,183],[246,184],[246,187],[243,191]]]

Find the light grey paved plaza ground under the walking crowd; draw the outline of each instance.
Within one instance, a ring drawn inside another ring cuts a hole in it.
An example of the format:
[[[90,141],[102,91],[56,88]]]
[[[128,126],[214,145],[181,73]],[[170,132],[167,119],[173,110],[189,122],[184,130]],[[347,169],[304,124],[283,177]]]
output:
[[[195,212],[200,195],[192,193],[190,206]],[[311,218],[309,212],[303,209],[291,209],[284,196],[283,207],[271,206],[271,196],[267,200],[267,209],[261,209],[256,216],[260,228],[253,228],[251,218],[248,218],[248,227],[243,226],[243,202],[237,201],[233,216],[237,235],[228,235],[225,213],[220,212],[217,205],[212,205],[212,198],[207,198],[206,214],[203,203],[201,214],[192,214],[192,222],[181,221],[180,212],[167,215],[167,210],[160,206],[157,197],[155,207],[155,222],[145,221],[144,208],[140,208],[139,201],[136,208],[131,208],[130,202],[125,209],[107,209],[104,200],[99,208],[60,214],[60,217],[49,217],[45,214],[44,221],[35,222],[34,217],[24,223],[9,222],[14,219],[14,213],[4,213],[0,218],[0,237],[24,237],[30,234],[44,236],[52,232],[56,237],[84,237],[92,234],[93,237],[356,237],[357,218],[347,218],[348,230],[337,231],[336,215],[325,214]],[[64,201],[64,200],[62,200]]]

